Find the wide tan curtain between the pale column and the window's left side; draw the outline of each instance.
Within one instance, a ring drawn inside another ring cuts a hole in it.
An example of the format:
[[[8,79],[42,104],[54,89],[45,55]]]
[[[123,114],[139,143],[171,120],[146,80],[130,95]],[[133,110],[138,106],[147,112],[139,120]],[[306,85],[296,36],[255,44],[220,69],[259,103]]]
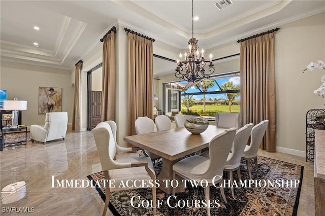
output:
[[[128,33],[128,135],[136,134],[138,117],[153,116],[152,41]]]

